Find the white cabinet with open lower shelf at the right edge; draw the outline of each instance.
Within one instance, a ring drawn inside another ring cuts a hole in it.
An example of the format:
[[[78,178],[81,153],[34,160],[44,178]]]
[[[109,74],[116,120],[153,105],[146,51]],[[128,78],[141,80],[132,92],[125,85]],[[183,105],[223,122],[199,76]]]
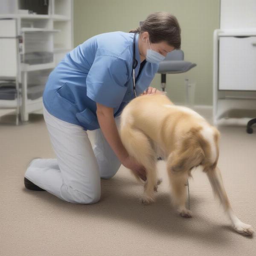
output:
[[[241,118],[240,113],[245,112],[250,114]],[[246,125],[255,113],[256,29],[216,29],[213,37],[214,124]]]

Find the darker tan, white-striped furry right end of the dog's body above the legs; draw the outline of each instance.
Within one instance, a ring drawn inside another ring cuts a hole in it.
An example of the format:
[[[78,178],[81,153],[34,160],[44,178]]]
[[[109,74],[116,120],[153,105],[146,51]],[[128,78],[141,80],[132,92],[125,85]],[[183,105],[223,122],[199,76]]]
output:
[[[194,167],[203,166],[204,172],[215,169],[218,162],[219,132],[214,127],[193,128],[187,132],[173,151],[169,162],[172,172],[187,172],[191,176]]]

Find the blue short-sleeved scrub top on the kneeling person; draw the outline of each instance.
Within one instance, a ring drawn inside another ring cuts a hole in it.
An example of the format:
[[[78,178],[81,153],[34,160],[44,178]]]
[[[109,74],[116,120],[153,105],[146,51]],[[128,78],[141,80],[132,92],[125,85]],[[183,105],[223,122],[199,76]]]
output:
[[[114,109],[118,116],[134,99],[132,80],[134,33],[110,32],[96,35],[80,44],[50,73],[44,89],[47,111],[63,121],[85,130],[99,128],[96,102]],[[135,58],[140,69],[139,35],[136,35]],[[150,85],[158,64],[146,61],[136,81],[140,95]]]

